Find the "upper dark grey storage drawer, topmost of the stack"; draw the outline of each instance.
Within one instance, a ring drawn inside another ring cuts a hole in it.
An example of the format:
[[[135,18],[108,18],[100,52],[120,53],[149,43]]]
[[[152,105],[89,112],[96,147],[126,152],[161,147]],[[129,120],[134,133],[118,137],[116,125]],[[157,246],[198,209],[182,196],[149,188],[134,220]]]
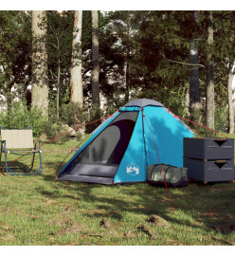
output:
[[[234,139],[221,137],[184,137],[184,157],[195,159],[233,159]]]

